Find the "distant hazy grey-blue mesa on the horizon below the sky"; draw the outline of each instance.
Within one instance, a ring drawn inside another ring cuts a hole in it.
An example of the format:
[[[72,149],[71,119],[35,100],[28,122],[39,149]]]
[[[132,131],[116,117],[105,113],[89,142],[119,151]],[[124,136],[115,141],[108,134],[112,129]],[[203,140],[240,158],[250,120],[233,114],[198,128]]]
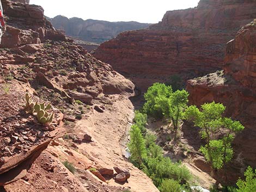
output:
[[[84,41],[101,44],[114,38],[126,30],[136,30],[149,27],[148,23],[138,22],[108,22],[98,20],[82,20],[82,18],[67,18],[58,15],[48,18],[56,29],[64,30],[66,35]]]

